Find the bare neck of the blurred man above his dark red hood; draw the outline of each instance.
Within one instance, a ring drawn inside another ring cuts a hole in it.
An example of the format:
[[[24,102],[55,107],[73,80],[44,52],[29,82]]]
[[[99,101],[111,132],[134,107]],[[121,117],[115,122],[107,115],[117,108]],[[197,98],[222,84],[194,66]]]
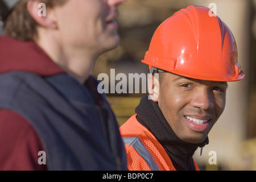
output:
[[[61,44],[53,34],[44,33],[36,43],[46,52],[54,63],[64,69],[81,84],[88,79],[97,59],[96,53],[85,49]]]

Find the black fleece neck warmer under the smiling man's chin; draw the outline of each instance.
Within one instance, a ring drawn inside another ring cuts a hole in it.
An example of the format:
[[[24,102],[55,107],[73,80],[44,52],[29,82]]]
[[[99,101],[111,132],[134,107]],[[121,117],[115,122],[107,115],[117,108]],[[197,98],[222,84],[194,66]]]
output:
[[[176,170],[196,170],[193,154],[198,147],[208,144],[208,137],[203,143],[192,144],[181,140],[164,118],[158,103],[144,96],[135,109],[137,120],[150,131],[170,156]]]

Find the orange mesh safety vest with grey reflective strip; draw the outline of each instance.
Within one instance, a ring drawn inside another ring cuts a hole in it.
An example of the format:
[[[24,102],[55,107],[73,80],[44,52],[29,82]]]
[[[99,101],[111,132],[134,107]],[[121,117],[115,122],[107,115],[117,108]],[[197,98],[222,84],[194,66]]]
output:
[[[126,148],[128,169],[130,171],[176,171],[167,152],[154,135],[137,121],[136,115],[120,127]],[[194,164],[199,171],[195,160]]]

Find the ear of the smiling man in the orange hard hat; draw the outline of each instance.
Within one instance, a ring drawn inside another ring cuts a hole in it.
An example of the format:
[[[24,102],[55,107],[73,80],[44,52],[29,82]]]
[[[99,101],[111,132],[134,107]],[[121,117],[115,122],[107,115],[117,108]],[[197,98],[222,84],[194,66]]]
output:
[[[147,76],[148,84],[148,99],[154,102],[158,102],[159,96],[159,74],[155,73],[154,75],[148,74]]]

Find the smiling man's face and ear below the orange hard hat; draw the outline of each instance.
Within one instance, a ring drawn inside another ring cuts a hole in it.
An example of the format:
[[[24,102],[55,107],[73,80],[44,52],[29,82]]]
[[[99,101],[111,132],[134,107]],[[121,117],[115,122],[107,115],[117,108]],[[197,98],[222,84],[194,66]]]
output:
[[[162,74],[160,84],[156,79],[152,81],[154,76],[148,78],[148,85],[155,90],[150,94],[152,100],[158,102],[177,137],[188,143],[204,142],[224,111],[227,83],[197,80],[170,72]]]

